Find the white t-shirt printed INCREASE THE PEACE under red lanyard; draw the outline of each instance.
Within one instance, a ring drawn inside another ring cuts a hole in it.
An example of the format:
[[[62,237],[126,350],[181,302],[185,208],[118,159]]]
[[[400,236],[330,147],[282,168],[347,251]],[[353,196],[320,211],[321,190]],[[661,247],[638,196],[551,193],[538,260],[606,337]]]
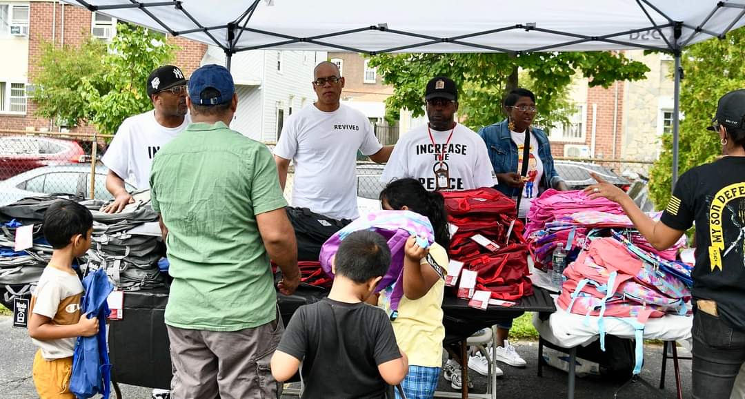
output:
[[[430,130],[428,125],[422,125],[401,136],[393,148],[393,154],[390,154],[381,181],[388,183],[413,177],[430,191],[438,189],[437,180],[443,176],[447,180],[446,189],[450,190],[494,186],[492,163],[484,140],[460,123],[455,126],[448,142],[450,132]],[[444,157],[440,162],[443,152]],[[446,174],[442,172],[444,170]],[[437,175],[436,171],[439,172]],[[440,184],[440,188],[442,186]]]

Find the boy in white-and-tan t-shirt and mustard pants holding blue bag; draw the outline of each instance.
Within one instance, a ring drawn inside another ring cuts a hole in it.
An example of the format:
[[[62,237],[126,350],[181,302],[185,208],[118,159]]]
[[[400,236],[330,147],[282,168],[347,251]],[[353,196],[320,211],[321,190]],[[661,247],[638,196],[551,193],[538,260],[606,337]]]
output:
[[[31,297],[28,335],[39,347],[34,385],[39,398],[75,399],[70,392],[72,354],[78,336],[98,333],[98,318],[80,317],[83,284],[72,261],[91,246],[93,216],[80,204],[59,200],[44,214],[44,237],[54,252]]]

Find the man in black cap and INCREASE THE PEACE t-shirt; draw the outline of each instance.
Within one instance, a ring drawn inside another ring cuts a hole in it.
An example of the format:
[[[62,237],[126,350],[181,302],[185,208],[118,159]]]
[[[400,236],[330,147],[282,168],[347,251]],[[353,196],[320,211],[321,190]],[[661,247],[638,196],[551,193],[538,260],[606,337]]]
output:
[[[381,181],[413,177],[430,191],[494,186],[484,140],[454,120],[458,109],[455,83],[448,78],[432,79],[425,101],[429,123],[401,136]]]

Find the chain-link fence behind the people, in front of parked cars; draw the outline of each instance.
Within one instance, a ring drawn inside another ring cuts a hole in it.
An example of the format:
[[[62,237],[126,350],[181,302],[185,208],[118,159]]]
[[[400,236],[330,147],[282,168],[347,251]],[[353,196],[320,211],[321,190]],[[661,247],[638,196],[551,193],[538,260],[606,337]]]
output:
[[[396,142],[398,126],[378,127],[378,139]],[[32,195],[72,194],[104,201],[111,198],[106,189],[107,169],[100,157],[112,136],[87,133],[0,131],[0,206]],[[274,143],[267,146],[273,150]],[[638,195],[646,189],[652,163],[640,160],[555,158],[559,175],[570,188],[594,183],[590,172]],[[377,209],[383,165],[361,157],[356,166],[357,195],[361,208]],[[285,198],[291,199],[294,168],[285,185]],[[640,205],[641,206],[641,205]]]

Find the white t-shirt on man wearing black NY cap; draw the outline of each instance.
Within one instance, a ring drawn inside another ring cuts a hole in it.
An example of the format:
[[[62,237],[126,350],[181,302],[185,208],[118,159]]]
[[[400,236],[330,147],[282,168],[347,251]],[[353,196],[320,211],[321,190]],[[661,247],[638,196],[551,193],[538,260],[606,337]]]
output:
[[[121,122],[101,162],[137,189],[149,189],[155,153],[186,129],[189,122],[191,118],[186,115],[181,126],[165,128],[156,121],[155,110],[130,116]]]

